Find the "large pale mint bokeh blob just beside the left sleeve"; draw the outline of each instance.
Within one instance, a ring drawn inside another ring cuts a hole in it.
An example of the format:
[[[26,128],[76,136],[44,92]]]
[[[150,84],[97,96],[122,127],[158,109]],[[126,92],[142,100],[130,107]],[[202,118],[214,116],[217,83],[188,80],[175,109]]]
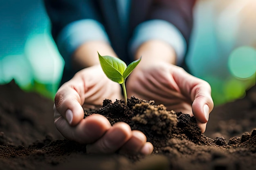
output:
[[[25,55],[36,81],[49,84],[60,79],[63,59],[47,33],[32,34],[25,44]]]

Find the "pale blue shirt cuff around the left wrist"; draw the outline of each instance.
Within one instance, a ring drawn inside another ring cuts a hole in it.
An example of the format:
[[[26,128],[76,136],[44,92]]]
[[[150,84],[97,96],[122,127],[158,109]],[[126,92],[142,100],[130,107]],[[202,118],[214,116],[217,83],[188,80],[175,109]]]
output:
[[[96,20],[74,21],[61,30],[56,45],[65,61],[66,68],[71,66],[71,56],[74,51],[83,43],[91,40],[102,40],[110,43],[104,26]]]

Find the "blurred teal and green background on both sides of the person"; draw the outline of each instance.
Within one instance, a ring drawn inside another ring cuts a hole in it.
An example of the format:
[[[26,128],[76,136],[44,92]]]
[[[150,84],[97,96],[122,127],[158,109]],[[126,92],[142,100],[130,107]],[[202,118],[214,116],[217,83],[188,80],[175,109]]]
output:
[[[187,57],[193,75],[211,84],[215,105],[242,98],[256,82],[256,0],[199,0]],[[0,84],[15,79],[50,99],[64,61],[42,0],[0,1]]]

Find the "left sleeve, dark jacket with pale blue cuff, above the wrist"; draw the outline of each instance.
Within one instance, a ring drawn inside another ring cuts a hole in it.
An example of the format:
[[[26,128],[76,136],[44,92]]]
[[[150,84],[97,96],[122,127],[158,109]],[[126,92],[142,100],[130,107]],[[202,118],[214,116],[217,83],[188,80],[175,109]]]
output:
[[[52,23],[52,36],[61,53],[65,68],[71,67],[71,56],[90,40],[110,42],[94,0],[45,0]]]

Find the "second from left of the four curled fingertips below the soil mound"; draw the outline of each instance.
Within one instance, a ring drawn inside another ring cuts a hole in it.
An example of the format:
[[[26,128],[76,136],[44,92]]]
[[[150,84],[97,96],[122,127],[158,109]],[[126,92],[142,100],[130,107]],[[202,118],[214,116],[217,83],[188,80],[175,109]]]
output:
[[[114,124],[106,134],[94,144],[87,145],[87,153],[113,153],[132,136],[131,128],[124,122]]]

